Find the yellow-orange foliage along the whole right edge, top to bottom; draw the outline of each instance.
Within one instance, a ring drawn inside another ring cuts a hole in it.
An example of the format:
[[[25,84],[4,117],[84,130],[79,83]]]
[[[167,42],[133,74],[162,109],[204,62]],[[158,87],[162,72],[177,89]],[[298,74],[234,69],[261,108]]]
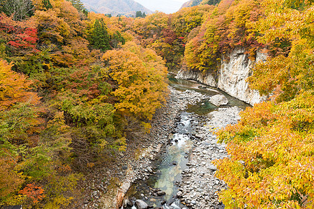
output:
[[[253,33],[264,45],[289,40],[291,48],[257,63],[248,78],[273,101],[218,132],[230,154],[215,162],[229,186],[220,199],[227,208],[313,208],[313,2],[261,3]]]

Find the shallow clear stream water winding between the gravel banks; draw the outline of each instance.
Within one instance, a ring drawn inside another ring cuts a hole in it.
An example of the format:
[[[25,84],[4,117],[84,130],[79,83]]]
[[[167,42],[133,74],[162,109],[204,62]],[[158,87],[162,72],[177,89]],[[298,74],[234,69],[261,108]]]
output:
[[[178,91],[197,91],[207,98],[216,94],[223,94],[229,103],[225,107],[237,106],[241,109],[248,107],[248,104],[227,95],[217,88],[204,86],[194,81],[169,78],[169,84]],[[189,104],[188,107],[179,114],[175,130],[169,134],[169,144],[163,147],[158,160],[152,165],[154,175],[144,180],[137,180],[130,187],[126,196],[129,199],[142,199],[149,206],[154,208],[187,208],[177,199],[178,185],[184,183],[182,171],[188,169],[188,162],[191,150],[193,149],[193,140],[197,135],[197,125],[202,124],[202,118],[218,108],[211,104],[208,99]],[[158,196],[158,192],[164,195]],[[135,206],[133,206],[135,209]],[[221,207],[223,208],[223,206]]]

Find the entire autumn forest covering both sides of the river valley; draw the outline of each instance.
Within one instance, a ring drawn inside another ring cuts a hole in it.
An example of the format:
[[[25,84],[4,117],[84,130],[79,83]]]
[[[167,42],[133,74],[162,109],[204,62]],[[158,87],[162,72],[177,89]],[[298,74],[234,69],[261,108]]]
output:
[[[216,3],[109,18],[80,0],[1,1],[0,205],[70,207],[78,180],[149,131],[167,69],[215,74],[243,47],[268,54],[248,82],[271,98],[218,132],[230,154],[215,162],[220,199],[313,208],[314,1]]]

